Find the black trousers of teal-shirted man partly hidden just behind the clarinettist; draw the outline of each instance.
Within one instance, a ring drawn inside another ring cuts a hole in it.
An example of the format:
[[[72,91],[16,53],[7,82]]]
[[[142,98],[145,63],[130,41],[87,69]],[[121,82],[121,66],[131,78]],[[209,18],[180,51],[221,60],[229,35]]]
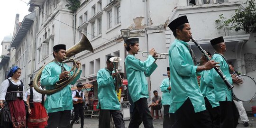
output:
[[[220,108],[219,108],[219,106],[212,108],[209,100],[206,97],[204,97],[204,102],[205,102],[206,109],[208,110],[208,112],[210,114],[210,119],[212,121],[213,128],[220,128]]]

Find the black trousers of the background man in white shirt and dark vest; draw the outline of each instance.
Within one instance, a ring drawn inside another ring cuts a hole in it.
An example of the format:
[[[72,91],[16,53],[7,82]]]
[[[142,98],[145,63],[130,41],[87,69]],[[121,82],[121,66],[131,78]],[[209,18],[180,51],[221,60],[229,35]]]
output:
[[[81,128],[83,128],[83,108],[82,108],[82,103],[74,104],[74,118],[70,123],[70,126],[73,126],[74,122],[76,119],[78,119],[78,115],[80,116],[80,123],[81,123]]]

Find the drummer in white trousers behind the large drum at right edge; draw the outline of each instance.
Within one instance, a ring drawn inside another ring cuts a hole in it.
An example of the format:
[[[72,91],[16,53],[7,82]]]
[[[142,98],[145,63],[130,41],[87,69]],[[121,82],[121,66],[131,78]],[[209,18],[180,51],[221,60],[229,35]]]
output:
[[[241,73],[239,73],[238,71],[235,71],[233,64],[229,64],[229,68],[230,68],[230,74],[231,75],[235,75],[235,76],[241,75]],[[235,101],[235,100],[233,100],[233,101],[236,104],[236,107],[237,107],[238,112],[239,112],[240,119],[243,121],[244,126],[245,127],[249,126],[249,119],[247,117],[246,110],[244,108],[243,102],[242,101]]]

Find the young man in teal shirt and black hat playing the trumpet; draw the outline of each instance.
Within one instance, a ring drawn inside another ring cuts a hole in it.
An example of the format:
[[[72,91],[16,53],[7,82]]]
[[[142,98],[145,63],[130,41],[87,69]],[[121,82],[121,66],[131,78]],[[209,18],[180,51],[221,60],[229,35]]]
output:
[[[148,85],[146,76],[150,76],[157,67],[155,64],[157,55],[152,48],[146,61],[142,62],[134,55],[138,53],[138,38],[130,38],[125,41],[128,55],[125,58],[128,90],[134,102],[133,115],[128,128],[139,128],[141,122],[145,128],[153,128],[153,118],[148,109]]]

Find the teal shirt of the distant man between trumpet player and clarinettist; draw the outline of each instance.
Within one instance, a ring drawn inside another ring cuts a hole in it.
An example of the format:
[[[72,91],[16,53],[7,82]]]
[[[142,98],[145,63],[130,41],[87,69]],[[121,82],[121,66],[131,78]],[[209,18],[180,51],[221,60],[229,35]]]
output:
[[[171,86],[169,78],[165,78],[161,83],[160,89],[163,92],[162,95],[162,104],[170,105],[172,102],[172,91],[169,91],[167,88]]]

